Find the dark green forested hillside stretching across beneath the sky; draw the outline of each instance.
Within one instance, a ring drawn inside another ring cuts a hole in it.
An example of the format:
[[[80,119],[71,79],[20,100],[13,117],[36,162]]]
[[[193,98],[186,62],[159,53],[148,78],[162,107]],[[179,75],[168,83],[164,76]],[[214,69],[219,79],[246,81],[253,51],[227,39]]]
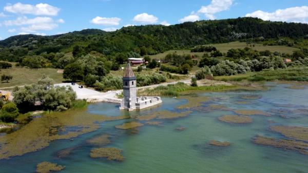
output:
[[[305,39],[308,25],[242,17],[171,26],[130,26],[115,32],[87,29],[53,36],[17,35],[0,41],[0,60],[21,63],[27,55],[43,55],[52,63],[54,55],[48,57],[46,54],[73,52],[74,56],[81,56],[95,51],[112,61],[117,56],[156,54],[231,41],[278,40],[281,37]]]

